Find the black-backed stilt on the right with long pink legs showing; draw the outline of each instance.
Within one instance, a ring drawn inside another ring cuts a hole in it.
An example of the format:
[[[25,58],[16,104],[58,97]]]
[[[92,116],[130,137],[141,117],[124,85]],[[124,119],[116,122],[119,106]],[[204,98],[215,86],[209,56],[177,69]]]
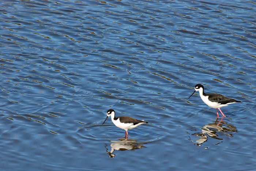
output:
[[[222,107],[224,106],[227,106],[229,104],[232,104],[232,103],[241,103],[241,101],[238,101],[238,100],[234,100],[233,98],[228,98],[228,97],[225,97],[221,94],[206,94],[204,93],[204,86],[201,85],[201,84],[197,84],[195,86],[195,91],[191,94],[191,96],[195,93],[199,91],[199,94],[200,94],[200,97],[201,99],[203,100],[203,102],[205,104],[207,104],[208,106],[210,106],[211,108],[214,108],[217,110],[217,117],[219,117],[219,113],[218,113],[218,109],[219,111],[221,112],[221,114],[223,116],[225,116],[221,109]],[[191,97],[189,96],[189,98]]]

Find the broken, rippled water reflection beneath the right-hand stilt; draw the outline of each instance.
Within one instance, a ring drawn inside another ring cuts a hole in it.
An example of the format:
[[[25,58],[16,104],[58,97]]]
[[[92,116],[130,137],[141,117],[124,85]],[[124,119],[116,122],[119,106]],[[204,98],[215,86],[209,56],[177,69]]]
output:
[[[231,124],[228,124],[226,121],[223,121],[223,118],[221,118],[220,121],[218,121],[218,118],[214,123],[205,125],[202,129],[202,133],[194,133],[192,135],[195,135],[197,137],[200,137],[198,140],[195,141],[195,144],[197,146],[201,146],[204,142],[208,140],[208,137],[221,140],[220,143],[222,143],[222,138],[219,138],[217,133],[223,132],[228,137],[233,137],[232,133],[236,133],[237,129]],[[219,144],[219,143],[218,143]]]

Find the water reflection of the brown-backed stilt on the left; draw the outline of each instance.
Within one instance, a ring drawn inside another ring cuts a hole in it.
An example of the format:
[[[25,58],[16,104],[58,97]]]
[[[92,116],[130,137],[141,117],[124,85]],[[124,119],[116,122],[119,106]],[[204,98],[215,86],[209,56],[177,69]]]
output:
[[[105,146],[107,153],[109,154],[109,158],[114,158],[115,154],[113,154],[113,152],[115,150],[119,150],[119,151],[126,151],[126,150],[136,150],[136,149],[140,149],[140,148],[145,148],[144,144],[147,143],[139,143],[134,139],[119,139],[119,141],[110,141],[110,147],[111,147],[111,151],[108,152],[108,148],[107,148],[107,144]]]

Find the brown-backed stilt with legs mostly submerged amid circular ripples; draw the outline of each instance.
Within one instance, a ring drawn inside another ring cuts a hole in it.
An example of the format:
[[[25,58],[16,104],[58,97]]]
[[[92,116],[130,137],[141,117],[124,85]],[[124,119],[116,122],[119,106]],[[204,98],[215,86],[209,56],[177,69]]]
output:
[[[121,116],[121,117],[116,117],[115,116],[115,111],[113,109],[109,109],[108,112],[107,112],[107,117],[105,119],[105,121],[107,120],[107,118],[111,116],[111,120],[112,122],[118,127],[118,128],[121,128],[121,129],[124,129],[125,130],[125,136],[128,135],[128,130],[130,129],[133,129],[133,128],[136,128],[138,127],[139,125],[141,124],[146,124],[148,122],[145,122],[145,121],[140,121],[140,120],[137,120],[135,118],[132,118],[132,117],[128,117],[128,116]],[[103,122],[103,124],[105,123],[105,121]],[[102,124],[102,125],[103,125]]]

